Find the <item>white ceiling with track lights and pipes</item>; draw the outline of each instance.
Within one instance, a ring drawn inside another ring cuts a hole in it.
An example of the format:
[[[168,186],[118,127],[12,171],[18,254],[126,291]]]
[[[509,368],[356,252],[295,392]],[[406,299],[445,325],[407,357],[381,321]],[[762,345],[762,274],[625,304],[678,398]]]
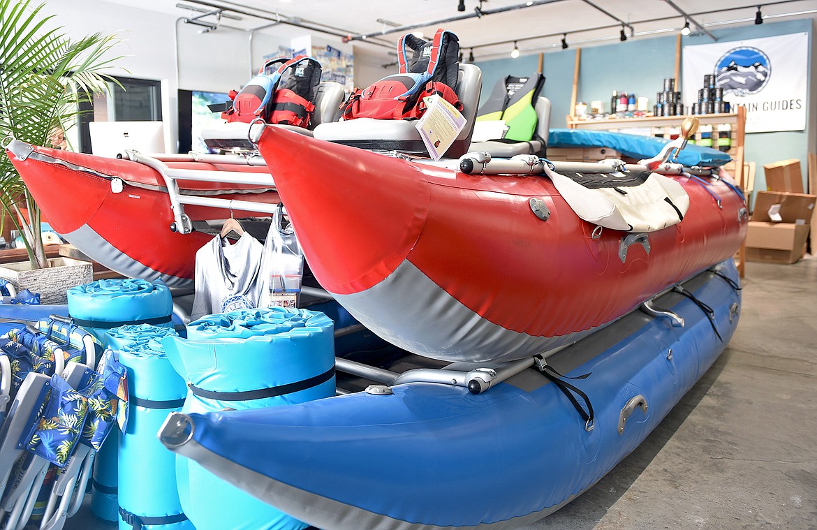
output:
[[[132,4],[132,0],[108,0],[114,3]],[[675,33],[684,25],[684,16],[673,5],[690,14],[694,20],[708,29],[735,25],[754,24],[757,3],[751,0],[536,0],[543,5],[524,7],[525,0],[484,0],[482,17],[475,15],[479,0],[463,0],[466,11],[458,11],[459,0],[150,0],[139,7],[175,13],[177,16],[197,16],[200,13],[181,9],[177,4],[194,6],[199,10],[221,7],[226,16],[240,16],[240,20],[222,18],[221,24],[241,29],[257,28],[277,20],[295,21],[309,29],[326,29],[338,36],[344,34],[382,32],[391,29],[379,20],[387,20],[400,26],[414,26],[412,31],[431,35],[437,27],[456,33],[464,50],[474,47],[476,60],[505,55],[513,47],[511,41],[520,41],[521,53],[547,51],[559,47],[562,33],[568,33],[567,41],[582,46],[594,42],[606,42],[619,38],[621,24],[631,23],[627,35],[649,38],[663,33]],[[519,6],[507,12],[491,11]],[[605,14],[607,11],[608,14]],[[775,1],[762,5],[765,22],[791,20],[792,18],[815,18],[817,0]],[[781,16],[798,13],[795,16]],[[472,16],[463,20],[440,20]],[[617,20],[618,19],[618,20]],[[212,21],[208,16],[203,20]],[[726,23],[726,24],[724,24]],[[710,25],[718,24],[718,25]],[[605,26],[608,26],[605,28]],[[598,28],[598,29],[596,29]],[[400,35],[408,29],[368,39],[368,46],[377,42],[393,49]],[[502,42],[500,44],[496,44]]]

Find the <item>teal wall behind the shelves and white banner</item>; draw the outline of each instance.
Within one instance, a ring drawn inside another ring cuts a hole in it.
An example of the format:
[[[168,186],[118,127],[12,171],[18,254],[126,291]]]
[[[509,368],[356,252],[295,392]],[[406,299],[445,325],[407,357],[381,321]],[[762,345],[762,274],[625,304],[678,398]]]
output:
[[[770,37],[788,33],[808,33],[809,50],[814,49],[812,20],[788,20],[784,22],[765,22],[759,25],[740,26],[733,29],[712,30],[719,42],[745,40],[749,38]],[[568,39],[569,42],[569,39]],[[712,39],[705,35],[682,38],[681,46],[708,44]],[[613,90],[635,92],[636,96],[648,96],[650,106],[655,102],[655,93],[661,91],[663,78],[675,75],[676,36],[659,38],[635,38],[627,42],[615,42],[599,47],[583,48],[578,79],[577,100],[589,105],[592,100],[601,100],[605,109],[609,107],[610,93]],[[570,95],[573,90],[574,61],[576,51],[573,47],[567,50],[550,51],[543,55],[542,69],[547,78],[544,94],[553,105],[551,127],[565,127],[565,117],[569,114]],[[804,68],[813,72],[814,54],[810,53],[810,64]],[[534,72],[538,66],[538,56],[521,56],[517,59],[502,59],[476,62],[483,71],[483,91],[480,101],[484,101],[494,83],[507,74],[524,75]],[[809,79],[813,78],[810,73]],[[679,87],[680,89],[680,87]],[[807,123],[814,123],[815,96],[809,87],[809,103],[806,109],[811,118]],[[814,127],[812,125],[812,127]],[[817,136],[813,131],[811,137]],[[809,145],[808,129],[806,131],[758,132],[746,136],[746,160],[757,163],[755,189],[765,189],[763,164],[776,162],[785,158],[799,158],[806,182],[806,154],[817,151],[814,140]],[[805,188],[804,188],[805,189]]]

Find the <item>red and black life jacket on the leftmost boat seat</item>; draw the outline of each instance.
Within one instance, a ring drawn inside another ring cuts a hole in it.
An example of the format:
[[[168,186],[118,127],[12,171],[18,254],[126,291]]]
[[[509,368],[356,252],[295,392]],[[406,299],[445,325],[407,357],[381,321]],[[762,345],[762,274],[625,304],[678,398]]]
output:
[[[266,61],[221,114],[228,122],[252,122],[309,127],[318,96],[321,66],[313,57],[275,57]]]

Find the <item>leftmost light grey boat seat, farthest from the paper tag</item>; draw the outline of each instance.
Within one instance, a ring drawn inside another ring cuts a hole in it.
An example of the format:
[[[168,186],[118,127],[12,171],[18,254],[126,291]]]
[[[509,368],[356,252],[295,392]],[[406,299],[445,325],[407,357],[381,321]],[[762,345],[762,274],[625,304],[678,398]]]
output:
[[[333,122],[337,118],[337,110],[341,106],[346,92],[343,85],[334,81],[322,81],[315,96],[315,110],[312,112],[308,128],[293,125],[276,125],[289,131],[296,131],[306,136],[312,136],[312,129],[321,123]],[[248,140],[250,124],[244,122],[221,123],[216,127],[202,130],[204,144],[210,149],[224,150],[255,150],[255,145]]]

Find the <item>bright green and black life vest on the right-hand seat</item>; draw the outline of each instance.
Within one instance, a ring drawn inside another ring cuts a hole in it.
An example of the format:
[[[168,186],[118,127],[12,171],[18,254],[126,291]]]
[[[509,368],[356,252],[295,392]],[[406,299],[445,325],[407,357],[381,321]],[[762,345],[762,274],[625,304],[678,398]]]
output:
[[[480,106],[476,121],[505,120],[508,127],[505,140],[533,140],[538,121],[534,98],[542,89],[544,80],[541,73],[526,78],[509,75],[500,79],[491,96]]]

